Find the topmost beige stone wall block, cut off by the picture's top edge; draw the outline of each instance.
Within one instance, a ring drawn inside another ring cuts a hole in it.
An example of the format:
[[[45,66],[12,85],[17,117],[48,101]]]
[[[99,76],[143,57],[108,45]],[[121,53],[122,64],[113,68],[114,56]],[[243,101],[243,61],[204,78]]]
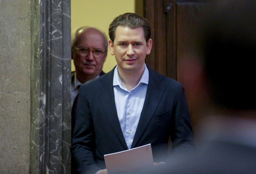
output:
[[[30,16],[30,1],[0,0],[0,16]]]

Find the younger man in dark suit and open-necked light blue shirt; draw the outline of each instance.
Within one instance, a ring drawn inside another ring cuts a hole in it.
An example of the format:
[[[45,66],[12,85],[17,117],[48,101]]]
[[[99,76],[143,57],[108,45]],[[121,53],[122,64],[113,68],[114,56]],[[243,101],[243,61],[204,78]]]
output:
[[[169,137],[174,153],[194,145],[183,85],[145,64],[152,46],[147,20],[119,15],[109,36],[117,66],[79,91],[71,146],[77,173],[107,173],[104,154],[149,143],[154,162],[164,162]]]

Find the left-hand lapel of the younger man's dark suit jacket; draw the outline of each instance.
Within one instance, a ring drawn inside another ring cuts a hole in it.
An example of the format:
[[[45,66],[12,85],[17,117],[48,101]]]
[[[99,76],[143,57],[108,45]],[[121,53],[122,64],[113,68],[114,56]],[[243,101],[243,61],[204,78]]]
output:
[[[97,92],[99,94],[102,109],[105,112],[105,116],[107,117],[109,124],[125,149],[128,149],[118,120],[117,109],[115,107],[113,90],[114,69],[107,73],[103,78],[99,79],[102,84],[97,86]]]

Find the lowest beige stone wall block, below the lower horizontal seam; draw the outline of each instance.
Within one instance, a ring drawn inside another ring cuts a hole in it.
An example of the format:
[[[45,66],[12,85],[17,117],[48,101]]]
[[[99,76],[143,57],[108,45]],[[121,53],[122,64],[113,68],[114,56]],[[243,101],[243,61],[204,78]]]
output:
[[[0,94],[0,108],[0,173],[28,173],[30,93]]]

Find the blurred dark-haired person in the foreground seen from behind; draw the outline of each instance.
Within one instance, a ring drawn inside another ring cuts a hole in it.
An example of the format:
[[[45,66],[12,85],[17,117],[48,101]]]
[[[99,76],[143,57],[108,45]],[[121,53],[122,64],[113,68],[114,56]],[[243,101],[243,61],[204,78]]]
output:
[[[192,60],[201,67],[187,79],[203,80],[212,101],[201,132],[204,143],[195,154],[146,173],[256,173],[256,2],[212,6],[199,33],[201,60]]]

